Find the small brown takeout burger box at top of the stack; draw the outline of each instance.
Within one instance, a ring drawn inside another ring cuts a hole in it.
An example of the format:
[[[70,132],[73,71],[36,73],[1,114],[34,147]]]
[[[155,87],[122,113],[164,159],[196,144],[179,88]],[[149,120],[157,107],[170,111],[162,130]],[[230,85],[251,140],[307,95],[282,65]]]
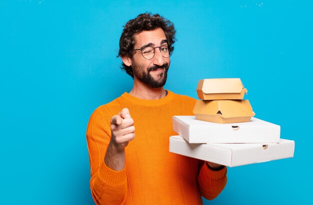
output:
[[[199,80],[196,92],[201,100],[242,100],[247,92],[240,78]]]

